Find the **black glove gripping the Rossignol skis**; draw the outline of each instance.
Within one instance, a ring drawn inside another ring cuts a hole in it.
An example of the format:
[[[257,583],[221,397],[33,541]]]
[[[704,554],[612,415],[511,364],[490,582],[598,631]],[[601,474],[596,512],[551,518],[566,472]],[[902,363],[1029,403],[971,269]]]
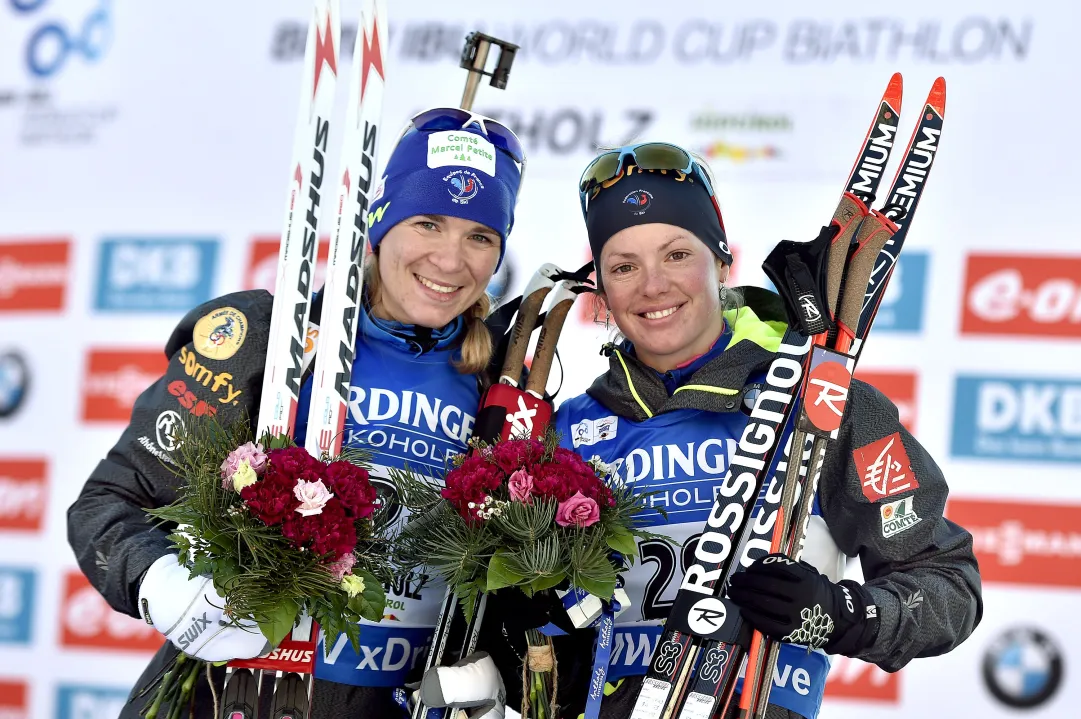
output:
[[[851,580],[833,584],[811,564],[762,557],[729,582],[729,598],[756,629],[830,654],[853,656],[878,635],[878,608]]]

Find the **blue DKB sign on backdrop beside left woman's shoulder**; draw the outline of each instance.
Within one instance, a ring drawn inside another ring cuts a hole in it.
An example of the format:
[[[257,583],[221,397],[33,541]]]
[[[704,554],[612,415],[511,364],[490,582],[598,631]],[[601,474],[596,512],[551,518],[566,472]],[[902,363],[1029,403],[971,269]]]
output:
[[[97,274],[96,309],[185,311],[210,299],[217,241],[106,239]]]

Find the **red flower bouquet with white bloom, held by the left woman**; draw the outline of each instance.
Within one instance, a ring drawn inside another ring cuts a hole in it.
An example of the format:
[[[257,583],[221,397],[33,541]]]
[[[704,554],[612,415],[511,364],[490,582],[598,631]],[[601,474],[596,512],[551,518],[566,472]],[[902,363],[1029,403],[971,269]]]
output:
[[[227,614],[258,624],[271,647],[302,616],[319,623],[329,645],[344,631],[358,647],[358,622],[383,618],[390,577],[363,455],[317,458],[291,438],[256,443],[248,422],[211,417],[181,427],[175,447],[168,466],[182,478],[177,500],[148,514],[176,527],[170,540],[191,576],[213,577]],[[146,716],[187,702],[205,663],[182,661]]]

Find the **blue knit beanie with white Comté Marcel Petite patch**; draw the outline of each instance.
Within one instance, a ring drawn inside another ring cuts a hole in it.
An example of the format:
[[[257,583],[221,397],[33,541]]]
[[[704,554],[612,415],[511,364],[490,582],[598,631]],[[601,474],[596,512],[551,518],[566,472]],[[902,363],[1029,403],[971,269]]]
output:
[[[471,219],[499,234],[499,264],[515,224],[521,172],[473,123],[465,130],[410,130],[387,161],[368,215],[372,250],[414,215]]]

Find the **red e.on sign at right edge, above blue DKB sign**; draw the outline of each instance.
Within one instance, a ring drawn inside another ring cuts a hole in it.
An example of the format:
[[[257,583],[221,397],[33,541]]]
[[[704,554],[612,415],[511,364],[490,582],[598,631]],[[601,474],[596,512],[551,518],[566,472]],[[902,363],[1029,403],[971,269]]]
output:
[[[963,334],[1081,337],[1081,257],[970,255]]]

